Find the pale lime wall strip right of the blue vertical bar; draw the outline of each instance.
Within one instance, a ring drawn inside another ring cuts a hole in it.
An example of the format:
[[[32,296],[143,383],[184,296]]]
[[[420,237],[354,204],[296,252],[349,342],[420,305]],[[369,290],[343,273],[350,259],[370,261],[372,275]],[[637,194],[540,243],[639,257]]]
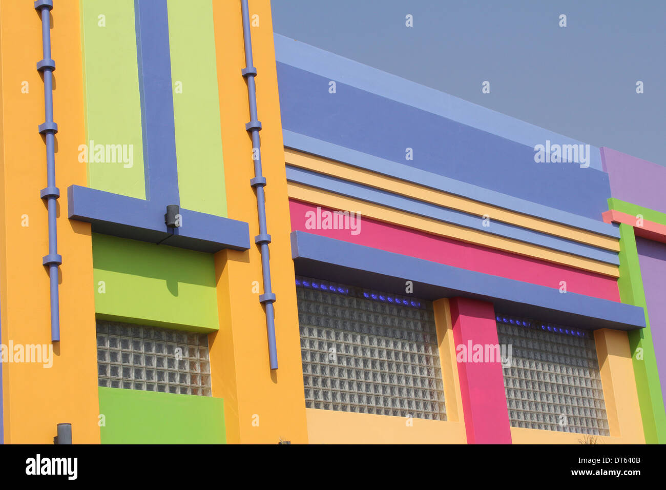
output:
[[[180,205],[226,217],[212,2],[167,5]]]

